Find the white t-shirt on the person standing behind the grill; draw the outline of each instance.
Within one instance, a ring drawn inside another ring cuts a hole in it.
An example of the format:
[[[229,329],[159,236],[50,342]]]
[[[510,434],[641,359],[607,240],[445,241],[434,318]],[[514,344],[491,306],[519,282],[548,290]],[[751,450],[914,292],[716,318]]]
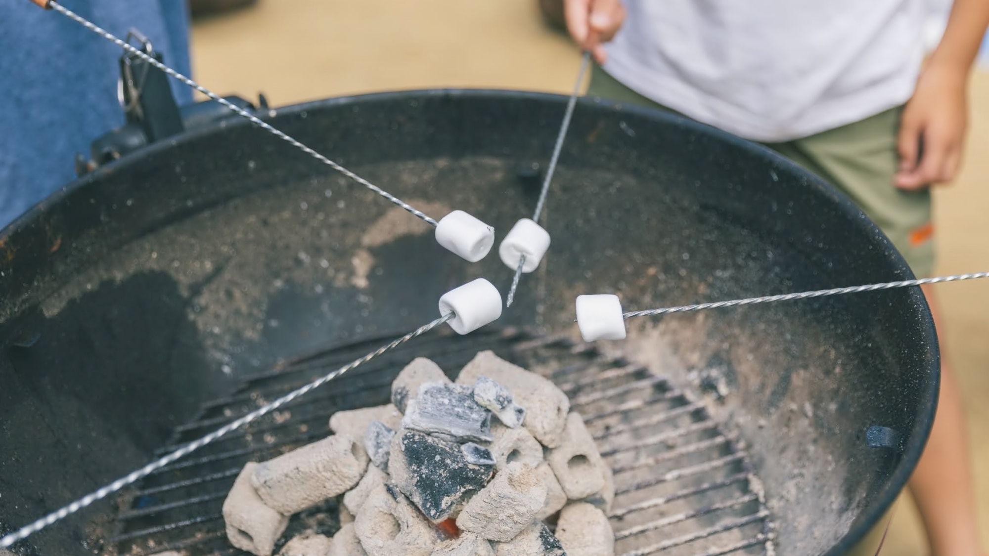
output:
[[[626,0],[604,70],[748,139],[799,139],[906,102],[924,0]]]

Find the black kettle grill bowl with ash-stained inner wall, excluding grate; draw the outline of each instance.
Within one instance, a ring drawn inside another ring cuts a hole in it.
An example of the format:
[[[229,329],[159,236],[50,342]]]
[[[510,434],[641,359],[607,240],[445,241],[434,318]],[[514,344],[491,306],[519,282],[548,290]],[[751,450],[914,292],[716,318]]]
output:
[[[268,119],[434,218],[480,217],[500,240],[531,215],[532,163],[545,165],[565,100],[403,92]],[[8,227],[0,530],[145,463],[238,378],[319,346],[404,333],[478,276],[505,293],[511,271],[496,252],[467,263],[396,211],[227,121],[104,166]],[[912,276],[846,198],[792,163],[602,101],[577,107],[545,227],[550,253],[499,324],[573,330],[584,293],[617,293],[630,311]],[[629,341],[609,348],[684,384],[716,373],[727,389],[708,397],[710,411],[751,453],[779,554],[848,551],[906,484],[939,377],[917,288],[629,325]],[[888,445],[869,442],[876,426]],[[103,502],[19,546],[82,554],[112,515]]]

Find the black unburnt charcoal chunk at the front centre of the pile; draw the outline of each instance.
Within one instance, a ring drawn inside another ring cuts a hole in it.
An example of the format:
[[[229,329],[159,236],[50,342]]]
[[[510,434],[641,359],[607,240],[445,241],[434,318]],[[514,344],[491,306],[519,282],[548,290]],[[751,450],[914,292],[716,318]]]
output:
[[[396,434],[388,469],[399,490],[433,522],[454,515],[494,474],[493,466],[469,463],[460,444],[413,430]]]

